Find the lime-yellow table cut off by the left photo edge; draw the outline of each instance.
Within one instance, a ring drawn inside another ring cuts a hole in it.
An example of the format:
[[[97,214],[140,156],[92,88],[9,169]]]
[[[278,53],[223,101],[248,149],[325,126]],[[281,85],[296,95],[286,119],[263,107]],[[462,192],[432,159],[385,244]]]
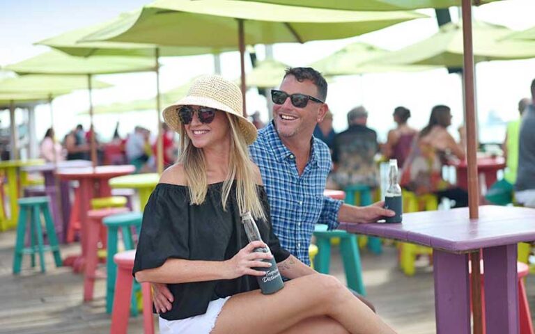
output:
[[[5,174],[8,178],[8,196],[10,205],[9,218],[7,218],[5,212],[3,212],[3,207],[0,208],[0,214],[3,214],[3,217],[0,217],[0,230],[7,230],[8,228],[13,228],[17,225],[17,219],[19,218],[19,207],[17,200],[19,199],[19,177],[21,176],[20,168],[42,164],[45,164],[45,160],[29,159],[0,161],[0,173]]]

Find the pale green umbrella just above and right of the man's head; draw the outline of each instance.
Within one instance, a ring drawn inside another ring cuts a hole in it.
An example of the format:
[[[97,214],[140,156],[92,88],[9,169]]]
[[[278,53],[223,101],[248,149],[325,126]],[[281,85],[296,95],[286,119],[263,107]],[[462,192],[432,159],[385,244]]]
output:
[[[390,51],[364,42],[355,42],[310,66],[325,76],[352,75],[371,72],[411,72],[433,70],[431,65],[390,65],[369,63],[371,59],[389,54]]]

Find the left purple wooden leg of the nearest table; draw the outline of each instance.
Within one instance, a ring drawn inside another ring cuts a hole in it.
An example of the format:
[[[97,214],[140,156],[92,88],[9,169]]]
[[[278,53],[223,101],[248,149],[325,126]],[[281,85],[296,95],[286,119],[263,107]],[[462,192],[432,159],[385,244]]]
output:
[[[433,250],[433,267],[437,334],[469,334],[470,280],[467,255]]]

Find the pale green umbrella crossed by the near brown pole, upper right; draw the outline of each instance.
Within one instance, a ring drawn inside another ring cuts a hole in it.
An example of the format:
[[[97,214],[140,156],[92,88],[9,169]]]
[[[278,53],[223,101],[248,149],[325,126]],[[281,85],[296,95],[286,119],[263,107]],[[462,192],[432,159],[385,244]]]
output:
[[[474,61],[504,61],[535,57],[535,43],[504,40],[513,31],[498,24],[472,22]],[[444,24],[426,40],[372,59],[371,64],[463,66],[463,26]]]

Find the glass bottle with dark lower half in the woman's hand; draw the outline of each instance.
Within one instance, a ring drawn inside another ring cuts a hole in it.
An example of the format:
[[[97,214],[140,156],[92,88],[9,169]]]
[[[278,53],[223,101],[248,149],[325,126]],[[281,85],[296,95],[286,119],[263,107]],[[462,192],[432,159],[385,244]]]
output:
[[[262,241],[260,232],[258,232],[258,227],[256,226],[256,222],[254,221],[251,212],[245,212],[245,214],[242,214],[242,224],[245,228],[245,234],[247,234],[247,239],[249,239],[249,242]],[[271,254],[269,247],[258,247],[255,248],[254,251],[258,253]],[[258,280],[258,285],[260,286],[263,294],[273,294],[284,287],[281,273],[279,273],[279,268],[277,268],[277,262],[275,262],[274,257],[271,259],[263,259],[262,261],[270,262],[271,267],[253,268],[255,270],[266,272],[264,276],[256,276],[256,280]]]

